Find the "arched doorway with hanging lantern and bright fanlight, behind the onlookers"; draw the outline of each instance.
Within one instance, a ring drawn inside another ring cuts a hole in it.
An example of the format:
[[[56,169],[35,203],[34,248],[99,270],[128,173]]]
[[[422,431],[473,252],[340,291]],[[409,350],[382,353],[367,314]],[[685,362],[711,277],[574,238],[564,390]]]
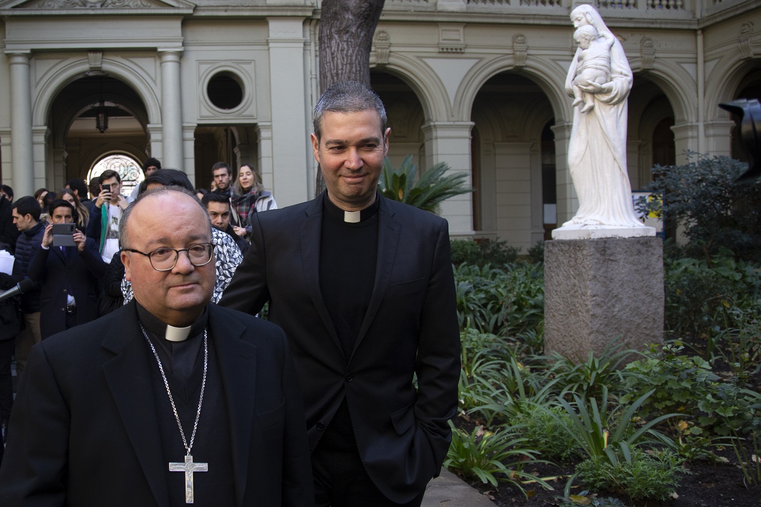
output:
[[[111,154],[129,157],[142,181],[140,167],[150,151],[148,116],[129,84],[103,72],[78,78],[60,90],[48,118],[46,176],[56,188],[72,178],[88,182],[96,163]]]

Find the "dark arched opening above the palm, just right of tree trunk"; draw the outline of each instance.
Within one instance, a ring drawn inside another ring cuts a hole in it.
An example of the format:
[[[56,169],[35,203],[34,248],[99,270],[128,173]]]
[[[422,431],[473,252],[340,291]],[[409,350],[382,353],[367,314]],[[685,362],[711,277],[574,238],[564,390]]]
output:
[[[391,128],[388,158],[391,165],[398,168],[407,155],[425,167],[425,139],[422,125],[425,120],[422,105],[415,91],[402,79],[393,74],[374,69],[370,73],[370,86],[383,100]]]

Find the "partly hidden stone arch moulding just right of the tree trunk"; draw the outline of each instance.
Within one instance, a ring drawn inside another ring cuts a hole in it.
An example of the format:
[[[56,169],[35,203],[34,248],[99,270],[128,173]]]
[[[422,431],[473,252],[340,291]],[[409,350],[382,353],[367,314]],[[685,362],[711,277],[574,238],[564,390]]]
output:
[[[420,100],[426,121],[441,122],[450,119],[449,94],[444,89],[444,84],[431,68],[425,65],[425,62],[391,52],[388,63],[385,65],[377,65],[374,55],[371,55],[370,66],[395,75],[408,84]]]

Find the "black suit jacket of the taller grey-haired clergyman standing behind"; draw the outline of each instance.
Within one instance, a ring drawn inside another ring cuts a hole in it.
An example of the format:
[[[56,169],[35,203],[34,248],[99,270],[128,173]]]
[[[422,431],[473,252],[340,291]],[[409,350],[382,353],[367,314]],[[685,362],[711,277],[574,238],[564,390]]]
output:
[[[220,304],[254,314],[269,300],[295,356],[311,448],[345,396],[368,474],[388,498],[409,502],[438,474],[457,410],[447,221],[380,197],[374,289],[345,357],[318,280],[323,198],[253,215],[251,248]]]

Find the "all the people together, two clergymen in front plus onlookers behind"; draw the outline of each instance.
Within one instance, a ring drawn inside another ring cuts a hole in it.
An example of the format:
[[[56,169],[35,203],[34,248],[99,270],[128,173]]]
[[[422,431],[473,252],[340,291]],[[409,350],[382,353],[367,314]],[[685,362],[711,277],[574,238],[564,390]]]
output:
[[[378,192],[386,124],[364,84],[329,87],[310,135],[326,189],[287,208],[248,164],[202,190],[158,160],[134,201],[105,171],[86,214],[79,181],[3,203],[0,282],[39,290],[0,505],[420,507],[460,331],[447,221]]]

